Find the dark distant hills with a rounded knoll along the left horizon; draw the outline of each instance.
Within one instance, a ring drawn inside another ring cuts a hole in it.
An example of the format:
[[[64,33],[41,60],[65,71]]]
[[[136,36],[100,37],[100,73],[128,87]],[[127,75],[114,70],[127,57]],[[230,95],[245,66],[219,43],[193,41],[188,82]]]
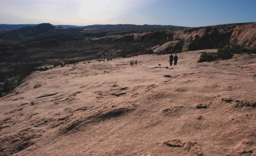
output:
[[[162,26],[162,25],[134,25],[134,24],[106,24],[106,25],[92,25],[84,27],[74,27],[70,25],[54,26],[49,23],[42,23],[36,26],[31,24],[24,25],[19,29],[11,31],[3,31],[0,33],[0,42],[24,42],[32,38],[45,36],[63,36],[61,40],[70,40],[79,38],[79,36],[88,37],[103,37],[109,35],[125,35],[128,33],[139,33],[143,31],[155,31],[160,29],[181,29],[181,26]],[[12,26],[15,28],[15,26]],[[16,27],[17,28],[17,27]],[[43,39],[44,40],[44,39]]]

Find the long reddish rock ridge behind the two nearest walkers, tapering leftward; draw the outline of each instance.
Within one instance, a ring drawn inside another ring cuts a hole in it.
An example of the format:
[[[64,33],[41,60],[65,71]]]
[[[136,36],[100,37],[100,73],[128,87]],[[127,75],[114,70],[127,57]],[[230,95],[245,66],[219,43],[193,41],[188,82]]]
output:
[[[227,45],[242,47],[256,46],[256,23],[224,24],[208,27],[191,27],[186,29],[166,29],[111,35],[93,39],[95,43],[132,43],[141,51],[152,49],[157,54],[189,50],[217,49]],[[140,47],[140,48],[138,48]]]

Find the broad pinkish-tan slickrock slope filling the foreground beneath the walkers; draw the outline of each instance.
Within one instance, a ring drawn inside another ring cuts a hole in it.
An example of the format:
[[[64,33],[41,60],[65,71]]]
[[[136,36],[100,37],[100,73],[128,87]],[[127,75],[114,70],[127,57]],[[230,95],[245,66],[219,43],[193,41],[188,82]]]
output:
[[[255,155],[256,56],[200,52],[31,74],[0,98],[0,155]]]

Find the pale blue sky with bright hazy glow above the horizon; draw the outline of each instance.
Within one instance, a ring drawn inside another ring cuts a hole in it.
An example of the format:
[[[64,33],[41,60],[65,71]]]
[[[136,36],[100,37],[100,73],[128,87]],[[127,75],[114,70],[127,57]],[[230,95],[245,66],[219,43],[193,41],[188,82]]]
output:
[[[256,0],[1,0],[1,24],[212,26],[256,21]]]

